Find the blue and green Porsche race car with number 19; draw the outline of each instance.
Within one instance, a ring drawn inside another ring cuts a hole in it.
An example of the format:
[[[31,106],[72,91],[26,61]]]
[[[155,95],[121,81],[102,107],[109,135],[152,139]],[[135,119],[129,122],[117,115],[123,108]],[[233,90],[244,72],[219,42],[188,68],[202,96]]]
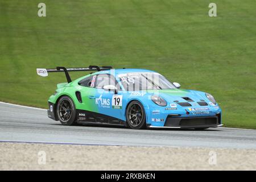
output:
[[[48,117],[62,125],[197,130],[222,126],[221,108],[211,94],[180,89],[180,84],[154,71],[96,65],[36,71],[43,77],[51,72],[67,77],[48,100]],[[92,73],[72,81],[69,72],[76,71]]]

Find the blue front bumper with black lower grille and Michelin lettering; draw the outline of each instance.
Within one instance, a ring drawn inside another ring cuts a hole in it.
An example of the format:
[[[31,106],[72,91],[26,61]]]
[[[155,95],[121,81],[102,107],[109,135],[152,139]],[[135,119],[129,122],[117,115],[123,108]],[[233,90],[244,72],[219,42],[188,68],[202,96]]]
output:
[[[152,108],[148,112],[147,127],[172,129],[220,127],[222,126],[221,113],[219,107],[210,106],[183,107],[182,109],[174,110]]]

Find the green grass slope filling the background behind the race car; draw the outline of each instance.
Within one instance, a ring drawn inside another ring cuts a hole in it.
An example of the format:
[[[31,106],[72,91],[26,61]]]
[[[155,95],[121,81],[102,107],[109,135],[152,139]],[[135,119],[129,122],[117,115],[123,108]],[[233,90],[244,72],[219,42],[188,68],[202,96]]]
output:
[[[213,94],[225,126],[256,129],[256,1],[216,0],[216,18],[205,0],[45,0],[46,18],[40,2],[0,2],[1,101],[47,107],[65,76],[36,68],[146,68]]]

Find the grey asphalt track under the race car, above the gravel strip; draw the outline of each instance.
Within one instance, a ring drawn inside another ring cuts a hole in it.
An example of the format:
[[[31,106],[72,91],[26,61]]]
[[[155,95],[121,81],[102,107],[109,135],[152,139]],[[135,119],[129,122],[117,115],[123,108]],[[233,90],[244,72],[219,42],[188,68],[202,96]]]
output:
[[[0,142],[114,146],[256,148],[256,130],[218,127],[196,130],[132,130],[122,127],[63,126],[47,110],[0,102]]]

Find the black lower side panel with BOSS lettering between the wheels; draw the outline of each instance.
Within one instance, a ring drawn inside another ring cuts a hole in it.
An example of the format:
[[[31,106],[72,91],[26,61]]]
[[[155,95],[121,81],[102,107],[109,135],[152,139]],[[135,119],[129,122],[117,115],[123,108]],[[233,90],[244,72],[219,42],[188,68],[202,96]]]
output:
[[[109,115],[95,113],[86,110],[76,110],[77,123],[79,124],[100,124],[127,126],[127,123],[121,119],[110,117]]]

